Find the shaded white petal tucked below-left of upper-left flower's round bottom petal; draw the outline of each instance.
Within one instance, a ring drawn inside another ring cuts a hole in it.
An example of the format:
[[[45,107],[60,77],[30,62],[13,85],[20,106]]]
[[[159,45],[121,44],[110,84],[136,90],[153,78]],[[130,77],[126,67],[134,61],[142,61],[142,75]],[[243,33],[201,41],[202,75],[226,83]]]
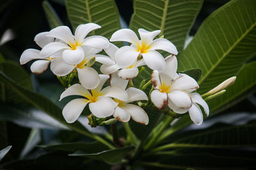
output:
[[[65,76],[69,74],[76,66],[67,64],[62,57],[51,60],[51,71],[56,76]]]

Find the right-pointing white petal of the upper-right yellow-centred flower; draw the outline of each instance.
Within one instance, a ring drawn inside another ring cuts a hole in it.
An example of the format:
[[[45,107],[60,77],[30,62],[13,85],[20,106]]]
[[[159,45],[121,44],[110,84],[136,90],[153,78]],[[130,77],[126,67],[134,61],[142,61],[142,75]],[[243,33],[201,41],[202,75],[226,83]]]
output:
[[[171,41],[164,38],[157,38],[150,44],[150,50],[164,50],[166,52],[178,54],[177,48]]]

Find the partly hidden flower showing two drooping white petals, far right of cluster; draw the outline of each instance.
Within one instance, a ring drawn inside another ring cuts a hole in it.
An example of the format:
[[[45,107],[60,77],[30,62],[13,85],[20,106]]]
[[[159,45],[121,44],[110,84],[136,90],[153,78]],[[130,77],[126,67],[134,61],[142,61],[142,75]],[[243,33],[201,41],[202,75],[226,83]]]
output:
[[[189,94],[189,96],[191,97],[191,100],[192,100],[192,106],[188,110],[189,117],[196,125],[201,125],[204,117],[203,117],[203,113],[202,113],[200,107],[198,106],[198,104],[200,104],[204,108],[204,112],[207,115],[207,117],[209,115],[209,106],[204,101],[204,99],[202,99],[200,94],[191,93],[191,94]]]

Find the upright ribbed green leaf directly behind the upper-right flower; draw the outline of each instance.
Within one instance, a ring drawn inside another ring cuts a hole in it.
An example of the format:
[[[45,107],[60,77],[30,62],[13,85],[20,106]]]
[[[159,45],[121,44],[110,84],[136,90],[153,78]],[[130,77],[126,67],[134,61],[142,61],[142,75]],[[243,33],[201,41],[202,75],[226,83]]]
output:
[[[202,0],[136,0],[130,28],[136,32],[140,28],[148,31],[160,29],[160,36],[172,41],[181,53],[202,3]]]

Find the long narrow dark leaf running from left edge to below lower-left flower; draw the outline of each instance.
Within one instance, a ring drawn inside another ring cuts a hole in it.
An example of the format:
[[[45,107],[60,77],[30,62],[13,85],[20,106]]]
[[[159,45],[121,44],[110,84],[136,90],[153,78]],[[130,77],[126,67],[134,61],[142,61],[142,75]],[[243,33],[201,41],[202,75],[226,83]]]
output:
[[[45,111],[49,116],[61,122],[61,124],[66,125],[70,129],[77,131],[86,136],[92,136],[79,122],[74,122],[73,124],[68,124],[62,115],[62,110],[58,108],[54,103],[52,103],[46,97],[36,93],[31,92],[30,90],[24,89],[15,83],[12,79],[10,79],[6,74],[0,71],[0,80],[4,83],[4,85],[10,87],[10,90],[15,92],[17,95],[22,97],[24,100],[33,104],[37,108],[42,111]]]

